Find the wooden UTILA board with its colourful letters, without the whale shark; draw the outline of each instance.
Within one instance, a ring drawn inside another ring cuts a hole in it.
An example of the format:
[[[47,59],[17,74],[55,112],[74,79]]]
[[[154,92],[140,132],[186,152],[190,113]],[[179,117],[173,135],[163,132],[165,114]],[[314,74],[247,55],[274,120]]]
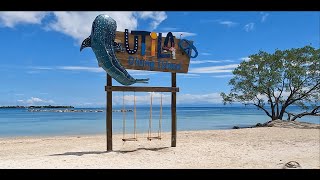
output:
[[[171,32],[116,32],[116,56],[126,69],[187,73],[190,58],[198,55],[193,42],[176,39]],[[192,50],[194,51],[192,53]]]

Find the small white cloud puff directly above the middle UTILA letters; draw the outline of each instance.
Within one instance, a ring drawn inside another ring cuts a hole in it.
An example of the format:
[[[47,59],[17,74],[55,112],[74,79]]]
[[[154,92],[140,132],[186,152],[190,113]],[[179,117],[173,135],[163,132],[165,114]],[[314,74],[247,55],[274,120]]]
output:
[[[138,12],[138,14],[142,19],[152,19],[153,20],[150,23],[151,30],[156,29],[162,21],[167,19],[167,14],[163,11],[160,11],[160,12],[144,11],[144,12]]]

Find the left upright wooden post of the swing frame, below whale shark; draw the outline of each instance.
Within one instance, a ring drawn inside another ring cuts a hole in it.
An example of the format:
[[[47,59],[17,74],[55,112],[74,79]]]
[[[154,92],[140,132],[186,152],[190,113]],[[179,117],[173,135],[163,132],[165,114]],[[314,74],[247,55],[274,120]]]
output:
[[[112,78],[107,74],[107,86],[112,86]],[[107,91],[107,151],[112,151],[112,91]]]

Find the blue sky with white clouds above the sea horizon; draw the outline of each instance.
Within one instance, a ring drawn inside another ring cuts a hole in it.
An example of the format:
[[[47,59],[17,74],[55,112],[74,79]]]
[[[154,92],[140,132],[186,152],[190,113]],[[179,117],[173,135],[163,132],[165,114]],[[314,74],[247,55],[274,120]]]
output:
[[[232,70],[259,50],[319,48],[319,12],[0,12],[0,106],[104,107],[106,74],[91,49],[79,52],[98,14],[114,18],[119,31],[171,31],[195,42],[199,56],[177,75],[179,106],[222,105]],[[171,85],[170,73],[129,73],[150,78],[149,86]],[[136,95],[138,104],[149,103],[148,93]],[[170,94],[163,97],[169,104]],[[121,98],[115,92],[114,104]],[[132,104],[133,93],[125,98]]]

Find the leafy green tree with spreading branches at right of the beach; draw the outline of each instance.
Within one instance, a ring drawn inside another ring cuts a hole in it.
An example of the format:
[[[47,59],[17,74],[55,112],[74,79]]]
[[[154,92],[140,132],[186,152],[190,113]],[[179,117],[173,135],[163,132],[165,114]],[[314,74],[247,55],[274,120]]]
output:
[[[320,116],[320,49],[311,46],[259,51],[232,72],[229,94],[221,93],[224,104],[253,104],[272,120],[296,120],[306,115]],[[299,113],[288,112],[296,105]]]

